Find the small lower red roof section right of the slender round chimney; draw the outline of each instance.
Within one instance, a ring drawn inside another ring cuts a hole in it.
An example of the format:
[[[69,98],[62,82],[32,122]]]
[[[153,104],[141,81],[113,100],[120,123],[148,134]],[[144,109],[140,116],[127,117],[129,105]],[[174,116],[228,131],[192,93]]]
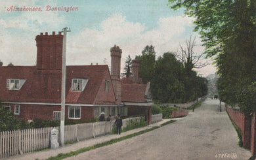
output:
[[[146,84],[122,84],[121,101],[146,103]]]

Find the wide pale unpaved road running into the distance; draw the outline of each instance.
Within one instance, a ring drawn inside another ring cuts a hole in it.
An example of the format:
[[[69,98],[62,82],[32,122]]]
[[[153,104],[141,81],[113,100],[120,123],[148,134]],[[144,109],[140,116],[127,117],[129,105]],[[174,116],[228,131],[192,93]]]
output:
[[[251,153],[238,146],[224,105],[222,110],[218,100],[207,99],[175,123],[67,159],[249,159]]]

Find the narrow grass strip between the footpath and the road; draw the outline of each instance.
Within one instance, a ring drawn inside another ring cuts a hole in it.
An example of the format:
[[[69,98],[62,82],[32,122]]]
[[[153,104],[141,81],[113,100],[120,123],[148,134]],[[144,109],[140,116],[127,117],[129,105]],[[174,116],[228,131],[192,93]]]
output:
[[[161,124],[161,127],[162,127],[163,125],[167,125],[167,124],[170,124],[170,123],[173,123],[173,122],[175,122],[175,120],[167,121],[167,122]],[[121,140],[126,140],[126,139],[128,139],[128,138],[132,138],[133,136],[142,135],[142,134],[144,134],[144,133],[153,131],[154,129],[158,129],[158,128],[160,128],[160,127],[152,127],[151,129],[146,129],[146,130],[144,130],[144,131],[139,131],[139,132],[133,133],[133,134],[131,134],[131,135],[123,136],[123,137],[120,137],[120,138],[115,138],[115,139],[109,140],[109,141],[107,141],[107,142],[102,142],[102,143],[100,143],[100,144],[95,144],[94,146],[89,146],[89,147],[86,147],[86,148],[81,148],[81,149],[76,150],[76,151],[74,151],[74,152],[72,151],[72,152],[69,152],[69,153],[60,153],[60,154],[58,154],[58,155],[55,156],[55,157],[49,157],[47,160],[58,160],[58,159],[64,159],[64,158],[66,158],[66,157],[72,157],[72,156],[74,156],[74,155],[78,155],[79,153],[87,152],[87,151],[89,151],[89,150],[93,150],[93,149],[96,149],[96,148],[100,148],[100,147],[102,147],[102,146],[108,146],[108,145],[110,145],[110,144],[114,144],[114,143],[119,142],[119,141],[121,141]]]

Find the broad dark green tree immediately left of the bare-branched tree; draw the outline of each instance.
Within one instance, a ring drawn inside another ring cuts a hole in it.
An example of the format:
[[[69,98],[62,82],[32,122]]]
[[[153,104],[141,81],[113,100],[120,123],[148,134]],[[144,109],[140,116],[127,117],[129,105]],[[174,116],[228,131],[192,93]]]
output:
[[[159,57],[151,81],[154,100],[159,103],[182,103],[184,85],[181,78],[182,63],[175,58],[175,54],[168,52]]]

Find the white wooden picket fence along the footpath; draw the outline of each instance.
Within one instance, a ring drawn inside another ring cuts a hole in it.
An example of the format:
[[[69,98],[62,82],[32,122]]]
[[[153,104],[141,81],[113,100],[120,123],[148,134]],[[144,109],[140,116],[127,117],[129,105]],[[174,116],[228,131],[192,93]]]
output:
[[[141,117],[123,120],[123,127],[129,120],[140,120]],[[99,121],[65,126],[64,142],[75,142],[111,133],[114,121]],[[49,148],[51,130],[60,127],[24,129],[0,132],[0,158],[12,157],[26,152]],[[59,136],[60,137],[60,136]]]

